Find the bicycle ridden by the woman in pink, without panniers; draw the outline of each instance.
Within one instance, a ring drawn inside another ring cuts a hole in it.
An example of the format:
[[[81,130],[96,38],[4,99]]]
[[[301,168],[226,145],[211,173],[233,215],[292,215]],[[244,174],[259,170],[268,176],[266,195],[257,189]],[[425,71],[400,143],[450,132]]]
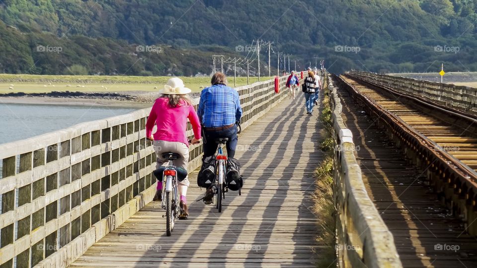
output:
[[[162,153],[162,157],[169,160],[169,164],[163,169],[162,179],[165,187],[162,187],[162,197],[165,198],[162,198],[160,206],[165,208],[165,229],[167,236],[170,236],[174,229],[174,221],[180,215],[179,202],[177,201],[177,170],[172,163],[173,160],[180,158],[180,155],[174,152],[165,152]]]

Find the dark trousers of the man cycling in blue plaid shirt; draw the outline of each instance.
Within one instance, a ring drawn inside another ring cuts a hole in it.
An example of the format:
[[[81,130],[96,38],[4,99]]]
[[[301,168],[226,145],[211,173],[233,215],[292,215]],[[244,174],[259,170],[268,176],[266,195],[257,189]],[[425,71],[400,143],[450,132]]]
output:
[[[218,143],[215,142],[216,138],[229,138],[229,141],[225,144],[227,147],[227,156],[233,158],[235,156],[235,148],[239,137],[237,136],[237,125],[220,131],[207,131],[204,130],[204,142],[203,150],[204,157],[212,156],[217,151]]]

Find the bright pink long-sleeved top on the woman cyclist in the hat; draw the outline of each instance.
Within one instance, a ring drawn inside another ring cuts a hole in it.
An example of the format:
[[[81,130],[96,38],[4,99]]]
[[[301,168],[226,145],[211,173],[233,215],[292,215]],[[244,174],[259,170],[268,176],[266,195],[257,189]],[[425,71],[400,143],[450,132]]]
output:
[[[194,106],[181,102],[177,107],[170,107],[167,98],[159,98],[154,102],[148,121],[146,122],[146,137],[150,137],[156,124],[157,132],[155,140],[182,142],[189,146],[186,128],[187,119],[192,124],[192,130],[196,139],[200,139],[199,117]]]

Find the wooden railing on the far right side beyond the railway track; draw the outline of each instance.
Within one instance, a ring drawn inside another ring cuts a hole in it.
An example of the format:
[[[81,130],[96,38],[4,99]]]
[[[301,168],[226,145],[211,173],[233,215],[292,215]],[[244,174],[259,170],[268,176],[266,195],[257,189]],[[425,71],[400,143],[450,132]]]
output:
[[[422,97],[445,106],[477,114],[477,88],[474,87],[435,83],[364,71],[350,71],[349,74],[371,83],[391,87],[411,96]]]

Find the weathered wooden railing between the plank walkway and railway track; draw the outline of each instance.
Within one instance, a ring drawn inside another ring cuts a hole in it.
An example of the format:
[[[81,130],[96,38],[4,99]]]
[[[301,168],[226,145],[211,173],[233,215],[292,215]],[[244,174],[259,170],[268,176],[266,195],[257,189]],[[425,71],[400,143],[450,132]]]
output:
[[[337,209],[336,254],[344,268],[401,268],[393,235],[368,196],[356,162],[353,134],[341,118],[342,105],[328,76],[333,155],[334,204]]]

